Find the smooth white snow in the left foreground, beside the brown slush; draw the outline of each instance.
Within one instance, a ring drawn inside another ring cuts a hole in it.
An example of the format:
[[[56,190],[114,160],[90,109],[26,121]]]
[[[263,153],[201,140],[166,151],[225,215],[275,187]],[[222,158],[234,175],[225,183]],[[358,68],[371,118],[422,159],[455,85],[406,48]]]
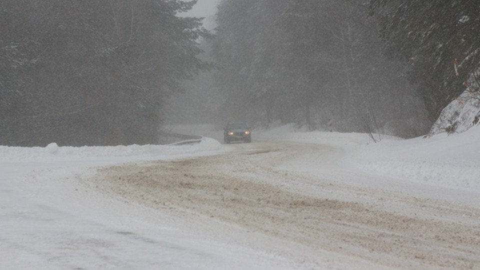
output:
[[[172,216],[85,187],[88,167],[118,161],[3,163],[0,269],[290,268],[271,254],[205,239],[179,229],[183,221]]]

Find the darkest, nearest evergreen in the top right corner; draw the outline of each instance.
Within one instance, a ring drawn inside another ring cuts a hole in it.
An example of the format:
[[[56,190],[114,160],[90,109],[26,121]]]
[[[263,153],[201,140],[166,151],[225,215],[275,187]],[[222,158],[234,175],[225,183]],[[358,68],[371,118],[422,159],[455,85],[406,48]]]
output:
[[[385,55],[407,64],[405,73],[431,121],[464,85],[478,89],[480,1],[371,0],[375,13]]]

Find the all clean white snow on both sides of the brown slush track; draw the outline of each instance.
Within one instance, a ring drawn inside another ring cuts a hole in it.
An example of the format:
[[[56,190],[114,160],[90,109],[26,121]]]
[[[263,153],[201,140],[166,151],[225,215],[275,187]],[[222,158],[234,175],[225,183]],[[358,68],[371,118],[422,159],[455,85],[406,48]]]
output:
[[[0,146],[0,269],[305,267],[278,254],[184,230],[175,225],[177,220],[172,216],[114,200],[79,183],[79,179],[94,173],[94,167],[125,162],[141,165],[148,160],[234,150],[218,142],[221,130],[184,126],[175,131],[205,137],[199,144],[178,146]],[[285,125],[253,130],[252,140],[328,145],[340,149],[332,162],[341,162],[345,170],[383,176],[393,188],[413,182],[422,186],[419,192],[428,192],[431,187],[451,190],[457,196],[468,194],[462,202],[480,207],[480,126],[449,136],[385,138],[373,143],[365,134],[305,132]],[[283,169],[310,173],[329,169],[328,165],[319,166],[308,154],[292,158]]]

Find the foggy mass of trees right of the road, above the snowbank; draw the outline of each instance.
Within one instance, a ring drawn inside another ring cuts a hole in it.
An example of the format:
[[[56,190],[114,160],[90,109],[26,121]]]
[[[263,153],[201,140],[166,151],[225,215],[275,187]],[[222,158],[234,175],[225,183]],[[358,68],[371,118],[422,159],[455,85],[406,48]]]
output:
[[[476,49],[469,62],[478,66],[474,31],[464,36],[468,27],[478,33],[477,17],[472,25],[478,6],[467,0],[222,0],[212,52],[224,66],[216,74],[224,118],[424,134],[473,71],[470,65],[453,77],[454,58]],[[425,37],[430,30],[436,32]]]

